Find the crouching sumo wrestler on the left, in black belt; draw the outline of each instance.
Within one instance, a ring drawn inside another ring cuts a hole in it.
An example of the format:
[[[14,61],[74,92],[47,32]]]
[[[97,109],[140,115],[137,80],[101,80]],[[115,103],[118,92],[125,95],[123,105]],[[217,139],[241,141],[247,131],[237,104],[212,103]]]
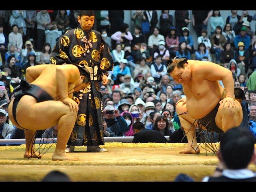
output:
[[[38,65],[27,68],[26,80],[14,89],[15,99],[8,107],[10,120],[25,130],[24,158],[40,158],[31,142],[36,130],[58,124],[58,142],[52,160],[78,160],[65,152],[78,112],[72,96],[88,86],[90,73],[76,64]]]

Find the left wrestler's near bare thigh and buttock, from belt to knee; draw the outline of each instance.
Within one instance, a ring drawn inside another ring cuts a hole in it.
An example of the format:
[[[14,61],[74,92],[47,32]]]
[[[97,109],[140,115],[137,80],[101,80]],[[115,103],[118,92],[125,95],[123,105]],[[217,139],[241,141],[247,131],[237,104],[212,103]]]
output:
[[[22,97],[22,99],[25,96]],[[60,118],[70,114],[67,121],[75,121],[77,113],[70,112],[68,105],[61,101],[44,101],[39,103],[28,102],[28,100],[20,100],[16,118],[20,126],[29,130],[44,130],[58,124]],[[24,113],[24,110],[26,112]],[[22,112],[23,111],[23,112]],[[72,115],[74,113],[74,115]]]

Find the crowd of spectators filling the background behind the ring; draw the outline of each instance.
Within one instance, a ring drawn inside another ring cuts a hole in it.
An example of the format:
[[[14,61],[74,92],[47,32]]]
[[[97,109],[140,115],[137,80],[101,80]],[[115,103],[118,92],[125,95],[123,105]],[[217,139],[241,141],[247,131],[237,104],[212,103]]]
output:
[[[2,138],[24,138],[8,120],[12,91],[26,78],[26,68],[50,64],[50,54],[58,38],[78,26],[78,13],[75,10],[0,11]],[[124,11],[96,11],[95,29],[109,45],[114,60],[108,84],[100,85],[104,136],[134,136],[140,132],[140,137],[146,137],[143,142],[167,142],[160,135],[170,136],[170,142],[186,142],[182,140],[185,133],[175,108],[185,94],[182,85],[174,82],[166,71],[166,62],[175,56],[212,61],[230,69],[235,87],[244,91],[245,114],[256,136],[256,35],[250,25],[256,14],[250,16],[248,11],[242,11],[240,16],[232,10],[224,22],[219,10],[193,10],[192,19],[189,13],[175,11],[171,15],[163,10],[158,15],[152,10],[137,10],[129,26],[124,23]],[[197,39],[192,38],[188,24],[194,27]],[[221,81],[220,84],[223,86]],[[58,126],[54,126],[51,134],[56,136],[57,130]],[[146,130],[154,132],[145,133]],[[37,136],[41,138],[42,134]],[[136,142],[142,140],[136,138]]]

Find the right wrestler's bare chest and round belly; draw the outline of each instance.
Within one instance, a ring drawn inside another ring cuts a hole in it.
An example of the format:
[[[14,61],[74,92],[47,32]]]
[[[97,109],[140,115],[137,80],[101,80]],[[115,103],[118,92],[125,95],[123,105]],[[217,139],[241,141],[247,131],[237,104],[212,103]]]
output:
[[[207,75],[200,71],[202,65],[207,65],[207,62],[188,60],[188,63],[191,66],[191,80],[188,83],[182,83],[187,98],[186,107],[192,118],[199,119],[218,104],[224,88],[220,86],[218,81],[208,80]]]

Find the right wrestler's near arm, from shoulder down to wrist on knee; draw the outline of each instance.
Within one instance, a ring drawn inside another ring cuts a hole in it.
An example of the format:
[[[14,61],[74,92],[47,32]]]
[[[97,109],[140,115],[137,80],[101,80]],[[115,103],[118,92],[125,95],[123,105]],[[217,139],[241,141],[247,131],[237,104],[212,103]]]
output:
[[[208,61],[200,62],[197,67],[202,73],[202,78],[210,81],[222,80],[226,90],[226,97],[235,99],[234,80],[230,70]]]

